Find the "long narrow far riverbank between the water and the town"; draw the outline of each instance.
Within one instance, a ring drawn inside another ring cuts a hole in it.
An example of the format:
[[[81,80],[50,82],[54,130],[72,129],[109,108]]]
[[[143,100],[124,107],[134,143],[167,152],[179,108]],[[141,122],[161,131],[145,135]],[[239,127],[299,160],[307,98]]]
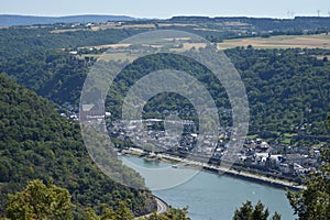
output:
[[[123,154],[134,155],[134,156],[141,156],[144,154],[143,150],[140,148],[130,148],[130,150],[123,150]],[[277,179],[264,176],[262,174],[254,174],[249,173],[246,170],[235,170],[233,168],[228,168],[223,166],[217,166],[217,165],[210,165],[207,163],[196,162],[196,161],[189,161],[186,158],[182,158],[174,155],[168,154],[157,154],[153,156],[152,158],[147,157],[146,160],[161,160],[168,163],[180,163],[184,166],[193,167],[193,168],[202,168],[208,172],[217,173],[217,174],[224,174],[229,175],[235,178],[245,179],[249,182],[257,183],[257,184],[266,184],[272,187],[276,188],[283,188],[283,189],[289,189],[289,190],[300,190],[304,189],[305,186],[297,185],[296,183],[288,182],[285,179]]]

